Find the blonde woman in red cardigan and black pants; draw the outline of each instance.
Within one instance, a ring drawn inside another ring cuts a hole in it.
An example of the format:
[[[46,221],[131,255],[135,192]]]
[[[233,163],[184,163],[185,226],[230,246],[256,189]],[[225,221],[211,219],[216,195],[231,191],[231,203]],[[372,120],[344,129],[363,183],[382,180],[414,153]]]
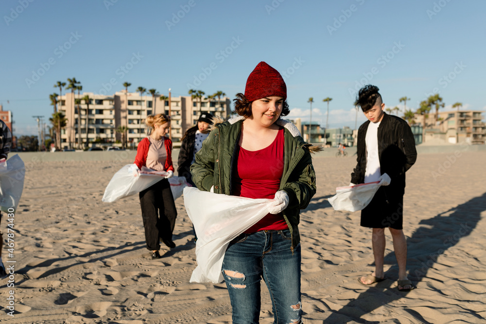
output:
[[[170,129],[170,118],[162,114],[149,115],[145,123],[152,127],[152,132],[140,141],[135,164],[139,169],[146,166],[156,171],[167,171],[168,173],[164,179],[139,193],[145,242],[147,249],[152,251],[152,258],[157,259],[160,257],[159,239],[162,239],[169,248],[175,247],[172,232],[174,231],[177,210],[175,209],[171,185],[167,180],[174,175],[172,141],[165,137]]]

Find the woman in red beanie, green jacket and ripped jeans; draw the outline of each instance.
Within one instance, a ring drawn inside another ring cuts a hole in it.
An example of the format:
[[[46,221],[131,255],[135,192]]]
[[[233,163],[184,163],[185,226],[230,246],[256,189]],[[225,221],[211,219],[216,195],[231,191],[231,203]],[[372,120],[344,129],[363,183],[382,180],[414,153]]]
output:
[[[197,188],[248,198],[274,199],[269,213],[234,238],[223,276],[233,323],[258,323],[260,280],[272,298],[274,323],[301,323],[299,210],[315,194],[310,144],[290,121],[287,87],[260,62],[238,93],[239,117],[213,126],[191,166]],[[218,217],[215,215],[214,217]]]

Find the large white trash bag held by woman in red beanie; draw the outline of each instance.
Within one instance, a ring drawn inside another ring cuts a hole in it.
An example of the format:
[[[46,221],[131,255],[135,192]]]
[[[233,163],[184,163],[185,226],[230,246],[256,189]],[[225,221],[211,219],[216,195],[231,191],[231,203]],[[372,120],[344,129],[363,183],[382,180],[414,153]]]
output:
[[[272,202],[184,188],[184,205],[197,235],[197,267],[190,282],[222,282],[229,242],[267,215]]]

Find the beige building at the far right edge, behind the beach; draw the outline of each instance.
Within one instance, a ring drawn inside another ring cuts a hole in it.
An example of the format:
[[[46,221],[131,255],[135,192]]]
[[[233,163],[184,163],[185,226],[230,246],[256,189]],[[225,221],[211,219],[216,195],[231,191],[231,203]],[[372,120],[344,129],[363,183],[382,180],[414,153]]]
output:
[[[439,111],[439,120],[435,121],[435,111],[431,111],[426,119],[424,143],[485,144],[486,125],[482,113],[481,110]],[[417,123],[422,120],[422,116],[416,116]]]

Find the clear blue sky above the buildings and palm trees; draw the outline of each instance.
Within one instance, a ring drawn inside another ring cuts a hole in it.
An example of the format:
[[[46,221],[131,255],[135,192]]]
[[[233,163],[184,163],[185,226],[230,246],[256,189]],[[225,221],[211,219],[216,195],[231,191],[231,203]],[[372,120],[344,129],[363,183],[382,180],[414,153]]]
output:
[[[481,0],[3,0],[0,103],[14,135],[36,135],[32,116],[51,116],[57,81],[234,98],[265,61],[285,78],[289,118],[309,120],[313,97],[324,125],[330,97],[330,127],[354,128],[354,91],[368,83],[388,107],[407,96],[415,110],[438,92],[445,110],[485,110],[484,12]]]

